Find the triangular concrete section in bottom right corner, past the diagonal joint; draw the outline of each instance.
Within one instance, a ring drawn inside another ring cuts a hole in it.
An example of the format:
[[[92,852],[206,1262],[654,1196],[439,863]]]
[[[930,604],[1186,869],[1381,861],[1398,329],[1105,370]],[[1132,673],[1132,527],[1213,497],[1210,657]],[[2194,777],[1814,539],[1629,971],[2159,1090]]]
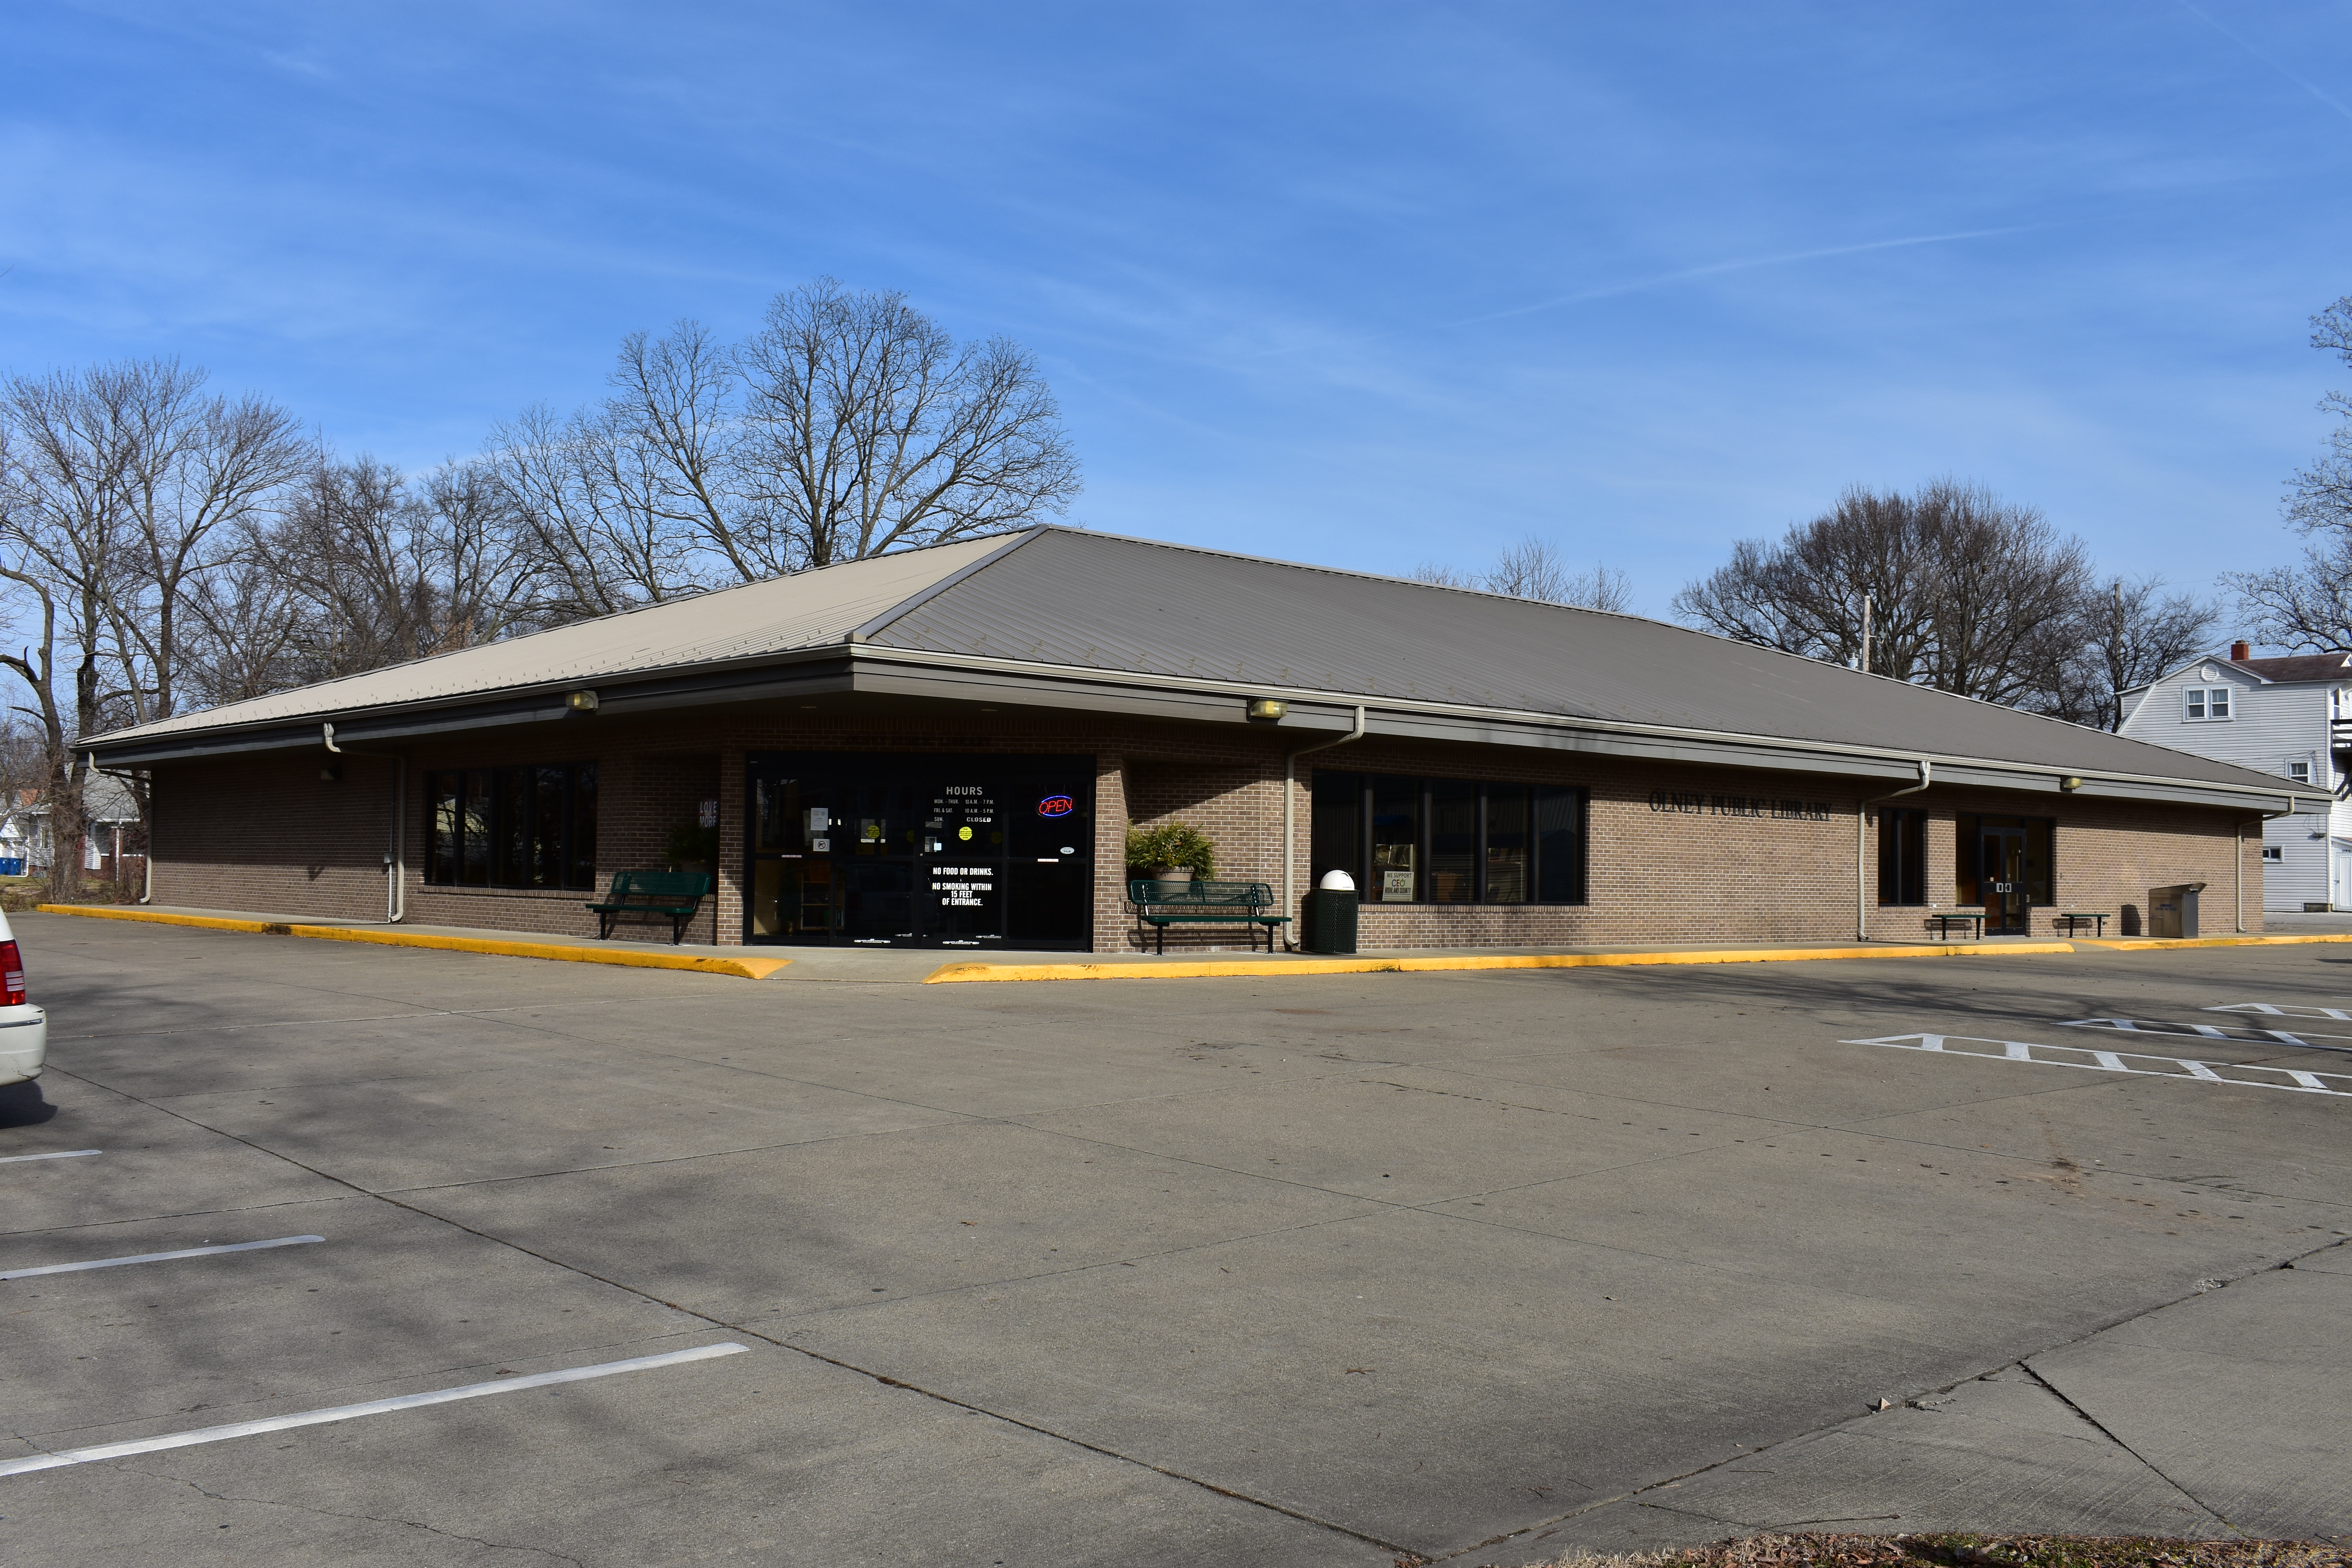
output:
[[[1449,1559],[1773,1530],[2298,1537],[2352,1547],[2345,1244],[1950,1389]]]

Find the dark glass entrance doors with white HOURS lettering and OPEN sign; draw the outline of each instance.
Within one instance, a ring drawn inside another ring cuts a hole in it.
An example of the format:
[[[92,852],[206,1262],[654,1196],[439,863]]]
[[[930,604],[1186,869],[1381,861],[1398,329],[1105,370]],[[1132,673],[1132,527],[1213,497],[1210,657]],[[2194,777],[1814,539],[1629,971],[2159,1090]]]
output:
[[[1094,757],[750,757],[746,940],[1087,947]]]

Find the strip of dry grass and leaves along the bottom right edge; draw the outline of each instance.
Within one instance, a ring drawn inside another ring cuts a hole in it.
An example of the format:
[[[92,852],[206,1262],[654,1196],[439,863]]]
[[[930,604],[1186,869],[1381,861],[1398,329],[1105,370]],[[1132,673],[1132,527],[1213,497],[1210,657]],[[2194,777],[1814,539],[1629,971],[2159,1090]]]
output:
[[[2347,1568],[2352,1552],[2310,1540],[2154,1540],[2147,1535],[1750,1535],[1712,1547],[1592,1556],[1526,1568]]]

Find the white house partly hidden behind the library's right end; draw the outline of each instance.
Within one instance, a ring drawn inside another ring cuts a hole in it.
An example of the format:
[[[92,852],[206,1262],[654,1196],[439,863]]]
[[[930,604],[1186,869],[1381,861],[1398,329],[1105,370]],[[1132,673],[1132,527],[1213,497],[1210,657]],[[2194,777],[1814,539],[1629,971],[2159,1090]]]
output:
[[[2352,654],[2249,654],[2122,691],[2122,733],[2310,785],[2263,825],[2263,907],[2352,910]]]

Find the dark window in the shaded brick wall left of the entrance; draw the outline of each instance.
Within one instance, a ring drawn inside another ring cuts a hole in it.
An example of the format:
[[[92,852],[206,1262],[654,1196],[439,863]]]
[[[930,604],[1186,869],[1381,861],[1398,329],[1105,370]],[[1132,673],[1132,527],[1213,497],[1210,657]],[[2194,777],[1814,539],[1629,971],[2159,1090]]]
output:
[[[426,882],[595,886],[595,764],[426,773]]]

